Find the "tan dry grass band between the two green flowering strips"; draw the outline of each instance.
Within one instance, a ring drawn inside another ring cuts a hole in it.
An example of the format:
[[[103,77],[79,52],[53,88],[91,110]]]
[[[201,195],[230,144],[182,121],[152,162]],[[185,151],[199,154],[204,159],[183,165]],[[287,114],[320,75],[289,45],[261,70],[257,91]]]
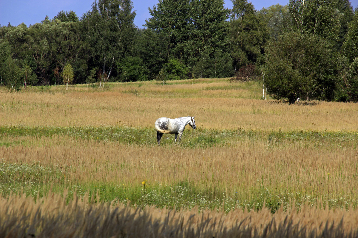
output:
[[[340,207],[358,197],[354,147],[315,148],[300,141],[272,147],[267,141],[244,140],[225,148],[193,150],[65,136],[10,137],[8,141],[11,140],[25,144],[0,147],[1,162],[55,168],[60,175],[34,179],[63,187],[107,184],[140,189],[146,180],[147,186],[160,189],[187,181],[198,192],[213,198],[233,197],[243,206],[264,191],[290,196],[282,199],[330,200],[332,206]],[[21,176],[20,171],[15,178]]]

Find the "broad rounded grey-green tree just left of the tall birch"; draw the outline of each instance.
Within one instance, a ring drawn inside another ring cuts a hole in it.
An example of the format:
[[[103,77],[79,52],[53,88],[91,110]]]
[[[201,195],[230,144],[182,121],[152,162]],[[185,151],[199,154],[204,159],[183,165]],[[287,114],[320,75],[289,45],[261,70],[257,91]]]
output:
[[[26,46],[37,62],[36,74],[43,84],[55,84],[53,70],[62,68],[67,62],[73,64],[77,60],[86,59],[83,54],[81,33],[77,31],[79,22],[58,19],[45,19],[28,28]],[[83,77],[83,76],[82,76]]]

